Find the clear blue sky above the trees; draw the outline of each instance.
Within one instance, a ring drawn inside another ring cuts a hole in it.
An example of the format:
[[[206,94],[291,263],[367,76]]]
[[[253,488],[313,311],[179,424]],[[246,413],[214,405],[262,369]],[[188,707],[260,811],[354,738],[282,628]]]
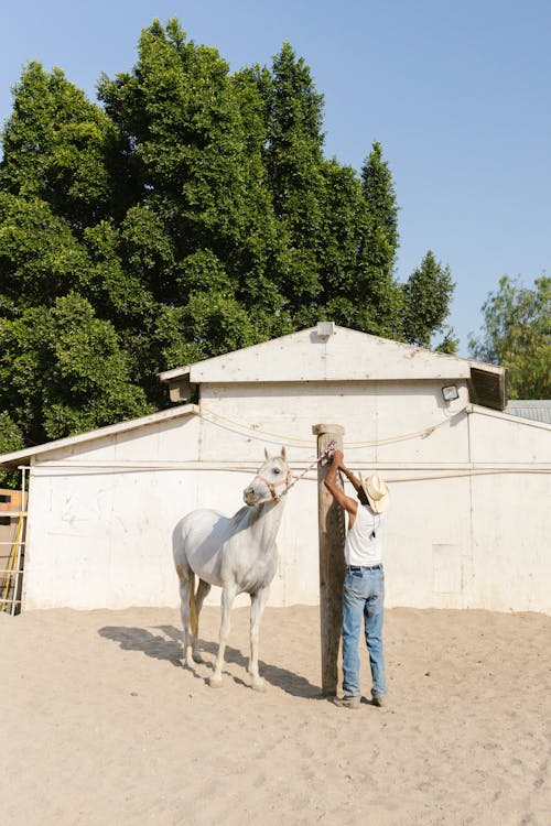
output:
[[[284,41],[325,97],[325,152],[359,170],[381,142],[400,206],[398,276],[428,249],[456,282],[467,336],[504,274],[551,269],[551,2],[548,0],[26,0],[2,11],[0,120],[30,59],[95,99],[132,68],[140,32],[176,17],[231,69]]]

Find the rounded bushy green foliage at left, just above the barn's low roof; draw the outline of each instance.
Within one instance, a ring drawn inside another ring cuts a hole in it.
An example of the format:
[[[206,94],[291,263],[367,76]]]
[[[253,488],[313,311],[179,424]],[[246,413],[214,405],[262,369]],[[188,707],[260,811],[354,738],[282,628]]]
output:
[[[2,407],[25,444],[152,411],[112,325],[77,294],[0,319],[0,352]]]

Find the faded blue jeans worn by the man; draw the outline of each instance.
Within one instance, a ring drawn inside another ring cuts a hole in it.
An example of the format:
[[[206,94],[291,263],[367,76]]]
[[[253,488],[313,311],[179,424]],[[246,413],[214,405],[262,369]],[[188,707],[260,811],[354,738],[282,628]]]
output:
[[[359,697],[359,631],[364,618],[374,697],[387,694],[382,653],[385,574],[381,568],[347,568],[343,586],[343,691],[346,697]]]

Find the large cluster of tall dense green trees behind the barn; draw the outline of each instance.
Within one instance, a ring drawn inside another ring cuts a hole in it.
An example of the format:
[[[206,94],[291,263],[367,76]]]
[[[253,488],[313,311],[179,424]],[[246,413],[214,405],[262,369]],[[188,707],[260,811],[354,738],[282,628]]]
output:
[[[98,102],[24,68],[0,162],[2,449],[165,406],[160,371],[317,320],[429,346],[450,272],[428,253],[398,282],[382,148],[356,172],[322,128],[290,44],[231,73],[175,19]]]

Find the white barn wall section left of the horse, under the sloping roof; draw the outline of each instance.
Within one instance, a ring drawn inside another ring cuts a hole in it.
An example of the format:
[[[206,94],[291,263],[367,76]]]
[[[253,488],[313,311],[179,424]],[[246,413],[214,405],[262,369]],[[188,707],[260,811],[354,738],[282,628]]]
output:
[[[185,417],[34,463],[24,607],[174,605],[171,531],[204,483],[179,468],[196,458],[197,420]]]

